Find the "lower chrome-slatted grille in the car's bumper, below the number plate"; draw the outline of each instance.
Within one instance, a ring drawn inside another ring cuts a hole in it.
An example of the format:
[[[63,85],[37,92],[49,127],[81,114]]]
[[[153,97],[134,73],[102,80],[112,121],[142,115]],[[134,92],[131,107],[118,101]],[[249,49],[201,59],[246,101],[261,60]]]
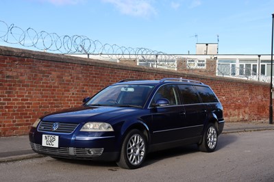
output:
[[[52,155],[64,158],[88,159],[92,157],[99,157],[103,153],[103,148],[73,148],[73,147],[60,147],[50,148],[40,144],[30,143],[32,150],[36,153],[45,155]],[[88,151],[92,151],[92,153]]]

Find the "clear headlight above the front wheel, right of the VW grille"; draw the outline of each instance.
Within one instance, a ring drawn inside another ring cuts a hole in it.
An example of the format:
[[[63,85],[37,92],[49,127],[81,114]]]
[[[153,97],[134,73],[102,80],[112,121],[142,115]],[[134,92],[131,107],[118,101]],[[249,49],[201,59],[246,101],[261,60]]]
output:
[[[114,131],[106,122],[87,122],[80,131]]]

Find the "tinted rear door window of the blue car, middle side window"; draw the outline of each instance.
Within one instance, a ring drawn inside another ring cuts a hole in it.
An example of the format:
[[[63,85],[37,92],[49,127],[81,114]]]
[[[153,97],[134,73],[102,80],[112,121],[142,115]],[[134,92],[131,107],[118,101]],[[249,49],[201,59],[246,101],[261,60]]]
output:
[[[184,104],[200,103],[199,96],[193,86],[178,85]]]

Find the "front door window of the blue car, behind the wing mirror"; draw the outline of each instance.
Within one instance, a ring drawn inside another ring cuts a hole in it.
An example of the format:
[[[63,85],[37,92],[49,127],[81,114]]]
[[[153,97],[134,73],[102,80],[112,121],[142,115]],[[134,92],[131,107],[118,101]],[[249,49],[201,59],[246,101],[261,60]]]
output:
[[[153,97],[152,103],[155,103],[160,98],[168,99],[169,105],[179,105],[179,96],[173,85],[164,85],[159,88]]]

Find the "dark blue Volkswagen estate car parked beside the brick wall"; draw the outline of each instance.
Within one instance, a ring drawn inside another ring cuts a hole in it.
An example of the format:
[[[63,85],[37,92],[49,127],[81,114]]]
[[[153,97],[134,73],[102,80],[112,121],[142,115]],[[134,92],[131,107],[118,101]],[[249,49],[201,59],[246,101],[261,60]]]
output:
[[[212,152],[224,127],[212,89],[188,79],[123,80],[80,107],[42,116],[29,131],[36,153],[139,168],[147,153],[197,144]]]

